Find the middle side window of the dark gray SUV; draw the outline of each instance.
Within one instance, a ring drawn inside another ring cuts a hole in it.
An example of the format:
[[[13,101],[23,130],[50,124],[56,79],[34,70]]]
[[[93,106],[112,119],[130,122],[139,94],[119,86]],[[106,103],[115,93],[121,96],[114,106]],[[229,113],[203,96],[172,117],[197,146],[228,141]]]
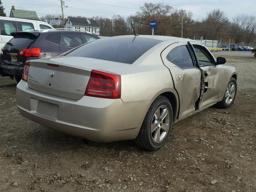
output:
[[[84,42],[80,34],[62,34],[62,45],[67,47],[77,47]]]

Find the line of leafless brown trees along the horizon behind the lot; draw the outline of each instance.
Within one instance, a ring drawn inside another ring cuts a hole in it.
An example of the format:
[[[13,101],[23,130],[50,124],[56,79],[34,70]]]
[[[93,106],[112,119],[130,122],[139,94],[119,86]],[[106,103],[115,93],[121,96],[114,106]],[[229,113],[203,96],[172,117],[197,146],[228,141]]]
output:
[[[183,9],[181,9],[183,10]],[[207,13],[202,20],[193,20],[192,12],[182,12],[173,9],[172,6],[164,3],[144,3],[140,11],[127,18],[115,15],[112,18],[100,16],[92,17],[100,27],[101,36],[118,36],[134,34],[131,22],[138,34],[151,34],[149,28],[150,20],[158,21],[158,28],[154,30],[157,35],[177,36],[181,35],[181,20],[183,16],[183,35],[187,38],[200,38],[229,41],[233,39],[238,42],[256,41],[256,17],[245,14],[235,16],[232,21],[228,20],[226,13],[220,9],[214,9]],[[183,15],[182,15],[183,14]],[[59,20],[53,20],[54,15],[47,15],[43,19],[52,26]],[[78,16],[85,18],[84,16]]]

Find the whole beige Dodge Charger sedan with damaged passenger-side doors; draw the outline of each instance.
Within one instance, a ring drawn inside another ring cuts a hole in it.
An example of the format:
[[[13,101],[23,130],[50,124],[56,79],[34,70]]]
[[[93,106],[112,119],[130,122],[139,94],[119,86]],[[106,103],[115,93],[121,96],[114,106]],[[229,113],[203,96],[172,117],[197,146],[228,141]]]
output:
[[[190,39],[104,38],[26,61],[17,106],[48,128],[96,142],[134,139],[157,150],[173,123],[214,104],[232,105],[237,73],[225,62]]]

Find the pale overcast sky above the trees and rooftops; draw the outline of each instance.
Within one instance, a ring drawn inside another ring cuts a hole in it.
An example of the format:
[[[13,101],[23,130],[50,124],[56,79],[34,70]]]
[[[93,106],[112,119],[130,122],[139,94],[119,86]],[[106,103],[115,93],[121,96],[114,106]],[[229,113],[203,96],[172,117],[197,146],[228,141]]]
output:
[[[64,0],[68,8],[64,8],[65,16],[103,16],[111,18],[115,14],[130,16],[143,5],[145,0]],[[80,3],[79,3],[80,2]],[[147,2],[164,2],[174,8],[183,8],[193,13],[195,20],[201,20],[206,12],[220,8],[228,18],[232,19],[238,13],[256,15],[256,0],[151,0]],[[2,0],[6,16],[10,15],[12,5],[16,9],[34,10],[41,17],[46,14],[61,14],[60,0]],[[101,6],[95,3],[101,4]],[[107,5],[115,6],[109,7]]]

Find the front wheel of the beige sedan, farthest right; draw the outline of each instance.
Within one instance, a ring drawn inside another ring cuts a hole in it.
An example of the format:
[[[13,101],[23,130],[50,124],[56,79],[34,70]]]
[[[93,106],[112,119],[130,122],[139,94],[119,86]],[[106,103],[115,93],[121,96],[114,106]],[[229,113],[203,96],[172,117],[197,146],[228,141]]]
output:
[[[219,108],[229,108],[236,98],[236,90],[236,79],[232,77],[228,82],[228,87],[226,88],[222,101],[218,102],[217,106]]]

